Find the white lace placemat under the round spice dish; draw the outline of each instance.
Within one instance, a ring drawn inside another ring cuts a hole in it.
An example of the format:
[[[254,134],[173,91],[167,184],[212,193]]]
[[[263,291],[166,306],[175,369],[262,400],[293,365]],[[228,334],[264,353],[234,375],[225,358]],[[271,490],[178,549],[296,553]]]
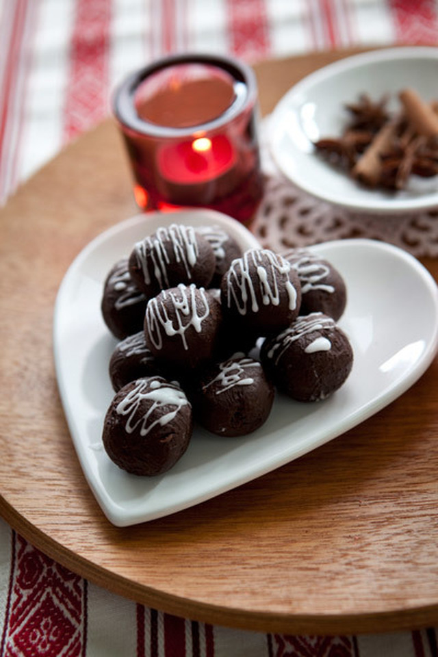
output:
[[[438,207],[416,214],[391,216],[355,214],[296,188],[276,169],[261,132],[266,191],[252,231],[262,246],[284,250],[318,242],[368,237],[395,244],[415,257],[438,257]]]

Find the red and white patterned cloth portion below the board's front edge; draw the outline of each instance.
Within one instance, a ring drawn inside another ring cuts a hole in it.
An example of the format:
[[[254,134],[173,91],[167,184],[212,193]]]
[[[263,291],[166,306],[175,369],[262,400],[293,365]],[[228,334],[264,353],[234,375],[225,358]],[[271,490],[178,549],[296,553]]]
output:
[[[125,600],[0,520],[1,657],[437,657],[434,629],[292,636],[212,626]]]

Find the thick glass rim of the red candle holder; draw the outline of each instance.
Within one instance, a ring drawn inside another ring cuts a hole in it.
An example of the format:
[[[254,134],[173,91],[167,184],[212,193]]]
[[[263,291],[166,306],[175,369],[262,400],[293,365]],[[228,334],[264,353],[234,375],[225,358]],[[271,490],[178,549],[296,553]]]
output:
[[[160,71],[180,64],[204,64],[218,68],[228,73],[244,86],[244,92],[237,93],[231,104],[218,116],[204,123],[196,123],[188,127],[172,127],[153,123],[142,118],[136,111],[133,96],[140,85],[149,77]],[[121,125],[144,136],[160,138],[183,138],[193,136],[198,131],[214,131],[227,125],[233,118],[239,116],[248,104],[257,103],[257,79],[253,69],[245,62],[228,55],[209,53],[182,53],[168,55],[128,75],[116,88],[113,96],[112,109],[115,118]]]

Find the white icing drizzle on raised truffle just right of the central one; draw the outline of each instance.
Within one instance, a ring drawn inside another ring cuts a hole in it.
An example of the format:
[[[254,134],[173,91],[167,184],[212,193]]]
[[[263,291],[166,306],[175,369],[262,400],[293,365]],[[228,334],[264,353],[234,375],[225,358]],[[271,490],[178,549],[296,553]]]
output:
[[[266,264],[267,261],[267,264]],[[227,305],[234,300],[240,315],[246,315],[248,308],[253,313],[259,311],[257,285],[263,305],[278,306],[280,303],[279,279],[283,279],[289,309],[296,309],[297,292],[289,280],[292,266],[287,260],[269,249],[250,249],[241,258],[231,263],[227,273]],[[254,275],[256,274],[256,275]],[[255,280],[253,280],[255,279]]]

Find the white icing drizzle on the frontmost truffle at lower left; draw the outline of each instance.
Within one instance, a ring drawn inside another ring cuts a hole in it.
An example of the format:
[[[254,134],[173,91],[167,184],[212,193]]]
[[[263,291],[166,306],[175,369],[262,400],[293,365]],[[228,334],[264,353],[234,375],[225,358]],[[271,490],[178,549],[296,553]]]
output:
[[[138,413],[143,400],[150,400],[151,406],[146,413]],[[140,436],[146,436],[157,424],[163,426],[172,422],[180,409],[189,404],[183,390],[159,378],[136,381],[135,387],[117,404],[116,413],[126,415],[125,431],[133,433],[140,425]],[[163,415],[159,415],[163,407],[169,407]],[[159,415],[155,417],[154,415]]]

